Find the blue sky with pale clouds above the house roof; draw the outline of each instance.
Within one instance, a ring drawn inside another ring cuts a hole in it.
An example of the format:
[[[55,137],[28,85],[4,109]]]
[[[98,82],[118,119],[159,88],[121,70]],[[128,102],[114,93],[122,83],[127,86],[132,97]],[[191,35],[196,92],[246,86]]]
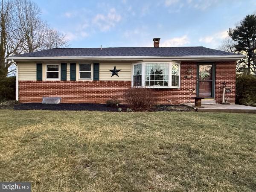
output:
[[[70,47],[204,46],[256,12],[256,0],[34,0]]]

